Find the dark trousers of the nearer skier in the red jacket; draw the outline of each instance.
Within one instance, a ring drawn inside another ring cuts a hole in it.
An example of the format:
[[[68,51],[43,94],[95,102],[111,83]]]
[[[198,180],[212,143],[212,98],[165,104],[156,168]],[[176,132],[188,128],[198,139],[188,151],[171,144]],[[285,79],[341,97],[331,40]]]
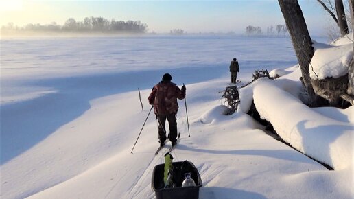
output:
[[[160,140],[160,142],[163,143],[167,139],[166,128],[165,128],[166,119],[169,124],[169,140],[171,142],[176,141],[177,138],[176,114],[172,113],[169,115],[158,115],[157,119],[158,119],[158,139]]]

